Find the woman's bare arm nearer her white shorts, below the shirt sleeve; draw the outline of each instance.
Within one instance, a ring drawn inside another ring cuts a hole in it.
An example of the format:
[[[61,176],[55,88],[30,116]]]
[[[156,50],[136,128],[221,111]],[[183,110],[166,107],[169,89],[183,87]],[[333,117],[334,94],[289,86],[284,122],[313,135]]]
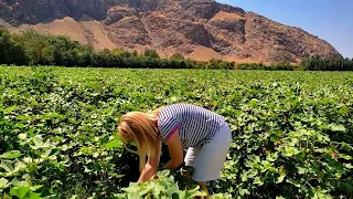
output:
[[[167,140],[169,154],[171,160],[169,160],[164,168],[170,170],[175,170],[184,161],[183,159],[183,147],[179,137],[179,130],[176,130],[168,140]]]

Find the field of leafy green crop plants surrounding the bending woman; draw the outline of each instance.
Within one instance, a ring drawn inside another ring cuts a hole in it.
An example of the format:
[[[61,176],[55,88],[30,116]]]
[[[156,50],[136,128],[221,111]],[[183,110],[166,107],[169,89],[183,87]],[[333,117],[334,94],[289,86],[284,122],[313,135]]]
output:
[[[165,172],[129,185],[138,159],[116,134],[122,114],[178,102],[233,130],[214,198],[353,196],[353,73],[2,66],[0,91],[4,198],[196,195]]]

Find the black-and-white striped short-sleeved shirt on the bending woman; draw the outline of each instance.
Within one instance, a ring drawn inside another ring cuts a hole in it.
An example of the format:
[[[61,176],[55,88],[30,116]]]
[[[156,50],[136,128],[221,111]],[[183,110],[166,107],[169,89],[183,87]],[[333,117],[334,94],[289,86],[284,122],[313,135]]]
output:
[[[225,124],[223,116],[191,104],[173,104],[160,109],[158,129],[165,143],[176,130],[184,148],[212,140]]]

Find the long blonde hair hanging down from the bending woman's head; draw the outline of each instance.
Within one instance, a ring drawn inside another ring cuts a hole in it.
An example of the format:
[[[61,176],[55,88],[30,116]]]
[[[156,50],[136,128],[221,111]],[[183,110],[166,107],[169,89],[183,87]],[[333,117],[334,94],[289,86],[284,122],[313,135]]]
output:
[[[122,142],[135,142],[137,151],[128,149],[139,155],[140,171],[146,165],[146,156],[153,157],[160,142],[160,134],[154,124],[156,115],[153,113],[130,112],[124,115],[118,126],[118,133]]]

